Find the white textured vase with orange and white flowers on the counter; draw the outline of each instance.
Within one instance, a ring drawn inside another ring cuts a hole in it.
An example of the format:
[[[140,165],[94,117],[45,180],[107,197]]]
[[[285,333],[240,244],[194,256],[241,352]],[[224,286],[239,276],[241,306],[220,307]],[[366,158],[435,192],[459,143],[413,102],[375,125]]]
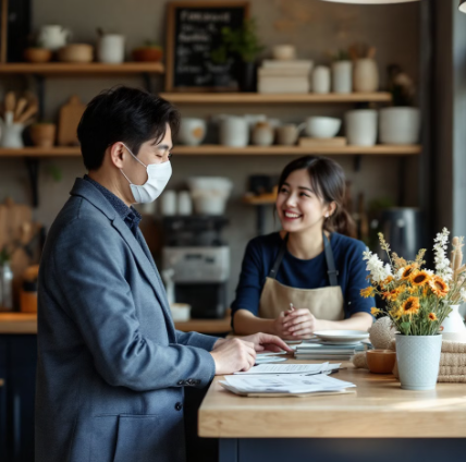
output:
[[[421,248],[416,259],[405,260],[391,252],[383,234],[380,245],[389,256],[383,264],[376,254],[364,253],[370,271],[370,285],[361,290],[363,296],[379,294],[387,302],[387,314],[397,330],[396,358],[403,389],[431,390],[436,388],[442,345],[441,326],[452,312],[452,300],[464,300],[465,268],[455,270],[445,255],[450,232],[444,228],[434,240],[436,270],[422,268],[426,250]],[[455,241],[456,247],[463,238]],[[461,250],[461,247],[459,247]],[[372,315],[384,313],[372,308]]]

